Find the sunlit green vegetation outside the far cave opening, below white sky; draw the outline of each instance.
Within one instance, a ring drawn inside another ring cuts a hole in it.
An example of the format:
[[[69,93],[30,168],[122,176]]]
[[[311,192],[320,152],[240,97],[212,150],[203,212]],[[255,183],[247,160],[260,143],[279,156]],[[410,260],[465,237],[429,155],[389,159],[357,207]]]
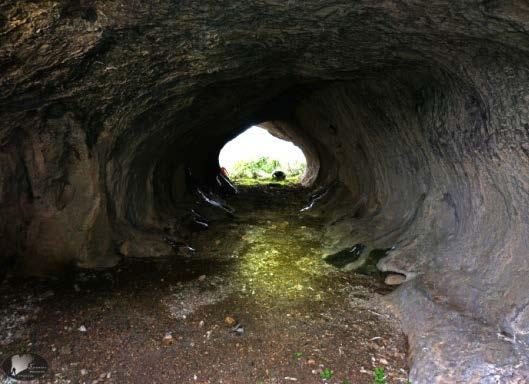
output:
[[[283,171],[286,179],[280,181],[280,183],[290,184],[299,182],[300,177],[305,173],[305,169],[306,165],[304,163],[285,165],[269,157],[260,157],[257,160],[237,162],[229,177],[237,184],[266,184],[277,182],[272,179],[272,174],[275,171]]]

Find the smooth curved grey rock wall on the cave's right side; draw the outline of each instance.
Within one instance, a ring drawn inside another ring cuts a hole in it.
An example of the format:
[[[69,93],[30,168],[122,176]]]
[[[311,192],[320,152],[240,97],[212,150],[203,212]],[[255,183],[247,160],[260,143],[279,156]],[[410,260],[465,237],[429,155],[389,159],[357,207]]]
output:
[[[328,217],[328,253],[359,243],[364,253],[390,249],[379,268],[407,276],[389,300],[406,308],[401,316],[415,335],[412,357],[422,362],[415,380],[526,380],[529,216],[519,212],[526,132],[522,125],[500,139],[494,132],[506,117],[489,107],[493,95],[431,74],[388,71],[301,103],[299,125],[315,135],[332,131],[319,145],[337,149],[332,164],[343,183],[312,211]],[[442,352],[424,357],[435,348]],[[484,357],[491,348],[501,356]]]

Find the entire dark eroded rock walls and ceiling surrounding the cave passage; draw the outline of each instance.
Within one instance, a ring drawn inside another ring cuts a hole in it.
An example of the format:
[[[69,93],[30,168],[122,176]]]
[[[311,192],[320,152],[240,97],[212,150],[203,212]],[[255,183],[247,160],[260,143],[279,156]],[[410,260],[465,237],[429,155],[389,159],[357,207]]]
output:
[[[529,380],[525,1],[0,4],[3,268],[172,252],[222,145],[270,121],[328,251],[411,280],[412,380]]]

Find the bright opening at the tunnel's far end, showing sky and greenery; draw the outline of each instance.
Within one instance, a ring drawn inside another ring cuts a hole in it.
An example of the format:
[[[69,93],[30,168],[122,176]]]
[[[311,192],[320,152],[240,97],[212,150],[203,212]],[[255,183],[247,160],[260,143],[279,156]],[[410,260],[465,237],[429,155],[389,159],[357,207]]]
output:
[[[239,184],[299,183],[305,175],[307,159],[290,140],[254,125],[224,145],[219,164]]]

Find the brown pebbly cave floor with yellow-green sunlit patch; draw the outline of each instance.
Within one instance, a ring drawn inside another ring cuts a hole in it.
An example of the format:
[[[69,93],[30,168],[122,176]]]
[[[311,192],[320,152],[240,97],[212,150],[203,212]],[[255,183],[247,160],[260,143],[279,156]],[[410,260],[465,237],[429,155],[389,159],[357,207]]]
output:
[[[192,256],[4,282],[0,359],[40,354],[42,383],[372,383],[375,367],[405,383],[390,288],[322,261],[305,193],[241,187]]]

